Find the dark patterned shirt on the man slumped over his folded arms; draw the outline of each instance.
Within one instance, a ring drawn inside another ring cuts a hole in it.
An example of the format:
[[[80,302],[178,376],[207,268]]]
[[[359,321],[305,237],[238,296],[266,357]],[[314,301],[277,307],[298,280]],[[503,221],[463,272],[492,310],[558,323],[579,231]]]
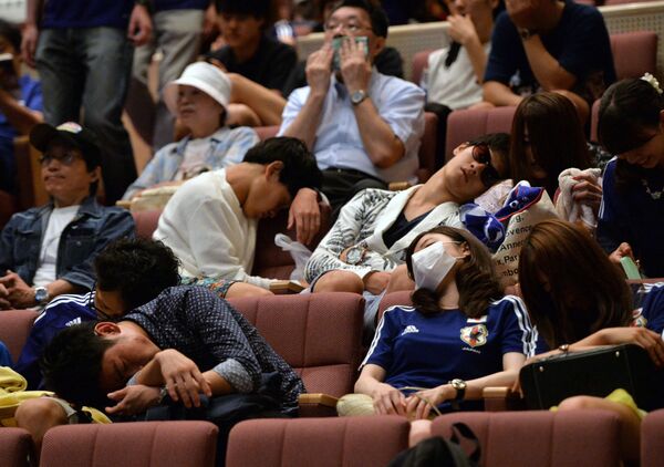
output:
[[[141,325],[159,349],[175,349],[201,372],[216,371],[237,392],[258,391],[261,374],[281,375],[282,408],[298,406],[304,385],[258,330],[228,302],[208,289],[180,286],[166,289],[124,320]]]

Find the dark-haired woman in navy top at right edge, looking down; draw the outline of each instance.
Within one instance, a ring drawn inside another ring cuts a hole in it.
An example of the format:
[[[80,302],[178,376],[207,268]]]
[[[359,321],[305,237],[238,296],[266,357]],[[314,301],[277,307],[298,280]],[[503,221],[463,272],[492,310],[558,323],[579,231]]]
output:
[[[635,257],[664,277],[664,96],[652,75],[623,80],[602,97],[598,133],[618,157],[604,173],[598,240],[611,258]]]

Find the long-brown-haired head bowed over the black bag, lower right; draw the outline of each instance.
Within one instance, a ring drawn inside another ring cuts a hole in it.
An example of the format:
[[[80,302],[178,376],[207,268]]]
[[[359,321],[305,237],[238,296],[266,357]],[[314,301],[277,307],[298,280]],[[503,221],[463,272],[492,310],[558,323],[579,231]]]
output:
[[[551,349],[632,320],[624,276],[585,229],[564,220],[532,228],[519,256],[519,287]]]

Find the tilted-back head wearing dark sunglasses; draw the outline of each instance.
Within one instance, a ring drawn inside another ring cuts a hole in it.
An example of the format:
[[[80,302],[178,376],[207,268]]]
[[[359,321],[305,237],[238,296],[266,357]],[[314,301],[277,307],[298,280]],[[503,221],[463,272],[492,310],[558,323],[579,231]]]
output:
[[[436,186],[445,201],[471,201],[508,178],[509,135],[494,133],[459,145],[453,157],[438,169],[425,186]]]

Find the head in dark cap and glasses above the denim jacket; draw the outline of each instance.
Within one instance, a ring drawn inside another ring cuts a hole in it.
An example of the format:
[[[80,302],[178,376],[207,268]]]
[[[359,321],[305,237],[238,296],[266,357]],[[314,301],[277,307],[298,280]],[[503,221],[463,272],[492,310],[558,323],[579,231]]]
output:
[[[94,196],[101,177],[102,152],[95,135],[77,123],[34,125],[30,143],[42,153],[41,176],[56,208],[80,205]]]

